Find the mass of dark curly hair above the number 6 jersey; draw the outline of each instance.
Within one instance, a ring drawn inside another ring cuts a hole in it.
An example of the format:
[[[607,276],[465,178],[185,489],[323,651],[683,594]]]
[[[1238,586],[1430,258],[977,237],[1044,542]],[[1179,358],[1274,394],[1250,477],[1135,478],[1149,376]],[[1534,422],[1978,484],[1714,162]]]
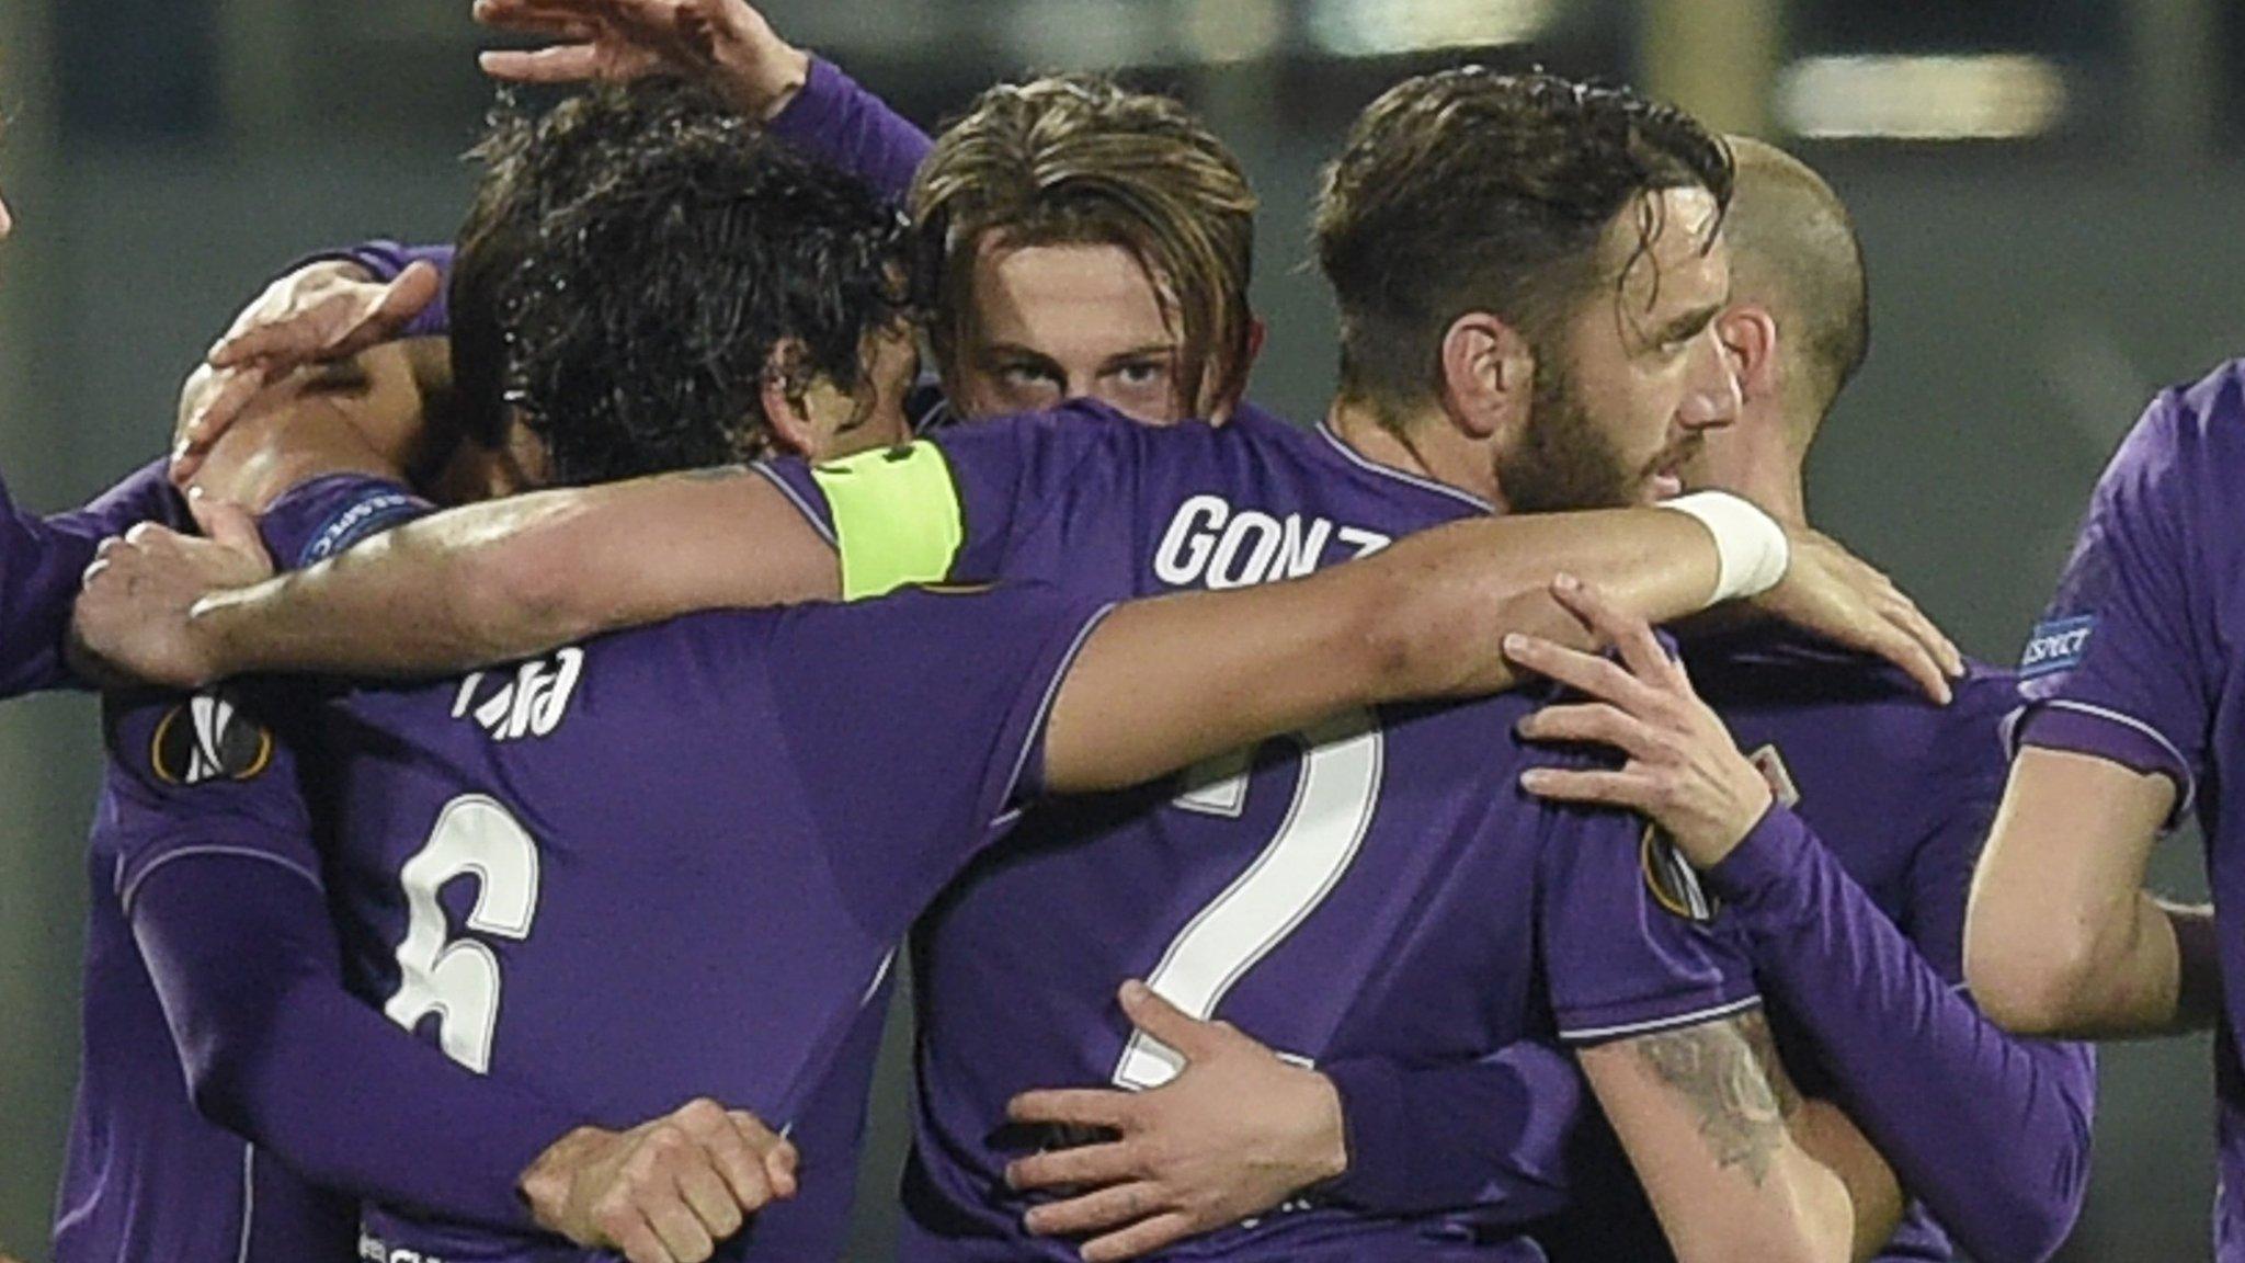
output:
[[[678,81],[602,85],[541,117],[503,101],[451,279],[471,434],[516,405],[557,483],[757,458],[761,389],[860,382],[869,333],[911,310],[914,231]]]

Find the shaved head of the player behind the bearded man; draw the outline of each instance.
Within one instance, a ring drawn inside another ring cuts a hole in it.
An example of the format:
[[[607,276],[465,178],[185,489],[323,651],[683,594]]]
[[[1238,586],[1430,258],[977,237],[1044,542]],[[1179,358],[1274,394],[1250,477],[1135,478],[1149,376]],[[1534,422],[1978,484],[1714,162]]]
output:
[[[1731,294],[1778,321],[1787,414],[1805,445],[1870,353],[1863,243],[1848,205],[1805,162],[1751,137],[1731,137]]]

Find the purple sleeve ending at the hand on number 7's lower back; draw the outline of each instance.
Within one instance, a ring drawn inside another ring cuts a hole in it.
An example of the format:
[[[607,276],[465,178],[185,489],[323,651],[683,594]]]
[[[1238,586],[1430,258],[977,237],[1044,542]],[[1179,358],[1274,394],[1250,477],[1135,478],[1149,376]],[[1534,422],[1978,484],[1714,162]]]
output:
[[[1475,1207],[1524,1223],[1567,1205],[1567,1144],[1583,1072],[1563,1050],[1515,1043],[1479,1061],[1318,1065],[1340,1094],[1349,1169],[1325,1198],[1381,1216]]]

